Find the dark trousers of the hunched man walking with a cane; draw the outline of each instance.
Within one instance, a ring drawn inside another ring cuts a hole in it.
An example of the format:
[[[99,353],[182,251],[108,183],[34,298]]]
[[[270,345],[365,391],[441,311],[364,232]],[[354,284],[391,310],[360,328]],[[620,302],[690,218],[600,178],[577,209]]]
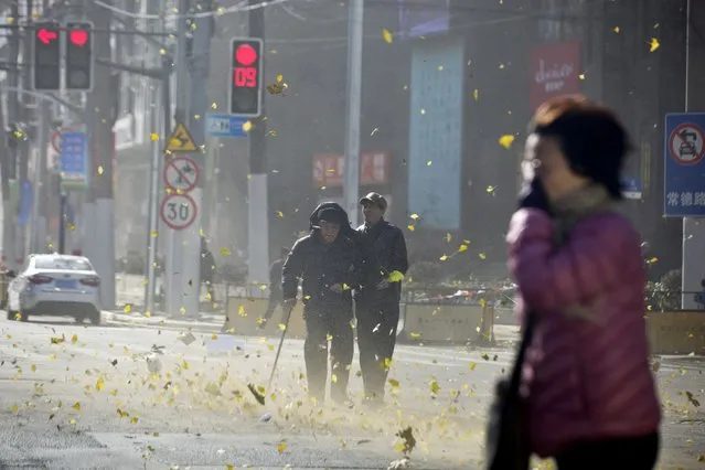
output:
[[[306,306],[306,342],[303,357],[309,395],[319,403],[325,399],[328,378],[328,340],[331,340],[331,398],[348,398],[348,381],[354,352],[352,311]]]

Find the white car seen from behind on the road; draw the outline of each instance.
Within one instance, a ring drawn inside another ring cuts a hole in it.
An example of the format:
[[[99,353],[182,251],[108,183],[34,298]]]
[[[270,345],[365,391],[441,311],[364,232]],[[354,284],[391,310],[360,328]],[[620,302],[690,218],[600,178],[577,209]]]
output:
[[[8,286],[8,320],[30,316],[73,317],[100,323],[100,277],[88,258],[30,255]]]

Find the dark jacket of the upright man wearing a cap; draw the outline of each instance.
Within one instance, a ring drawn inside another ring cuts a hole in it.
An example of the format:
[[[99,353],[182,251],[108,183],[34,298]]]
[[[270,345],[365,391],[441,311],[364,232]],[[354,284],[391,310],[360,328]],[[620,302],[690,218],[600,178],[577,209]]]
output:
[[[376,286],[392,271],[406,275],[409,268],[402,229],[384,220],[371,227],[361,225],[357,227],[357,244],[363,257],[362,288],[357,298],[363,301],[398,301],[402,296],[400,282],[393,282],[388,289],[382,290],[377,290]]]

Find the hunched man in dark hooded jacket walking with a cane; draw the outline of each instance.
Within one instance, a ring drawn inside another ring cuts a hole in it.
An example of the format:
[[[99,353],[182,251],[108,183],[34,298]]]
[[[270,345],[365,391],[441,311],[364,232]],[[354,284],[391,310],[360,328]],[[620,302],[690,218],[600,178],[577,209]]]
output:
[[[317,403],[325,398],[330,339],[331,397],[343,404],[354,351],[351,289],[359,285],[361,260],[355,243],[343,235],[350,223],[342,207],[323,207],[314,215],[311,234],[297,241],[284,264],[281,290],[285,305],[292,308],[301,280],[309,395]]]

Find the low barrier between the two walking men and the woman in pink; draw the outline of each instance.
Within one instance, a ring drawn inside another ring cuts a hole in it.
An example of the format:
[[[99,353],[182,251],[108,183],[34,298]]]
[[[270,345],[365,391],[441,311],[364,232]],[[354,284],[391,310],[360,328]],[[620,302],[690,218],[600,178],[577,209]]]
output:
[[[492,306],[407,303],[403,339],[407,342],[492,343]]]

